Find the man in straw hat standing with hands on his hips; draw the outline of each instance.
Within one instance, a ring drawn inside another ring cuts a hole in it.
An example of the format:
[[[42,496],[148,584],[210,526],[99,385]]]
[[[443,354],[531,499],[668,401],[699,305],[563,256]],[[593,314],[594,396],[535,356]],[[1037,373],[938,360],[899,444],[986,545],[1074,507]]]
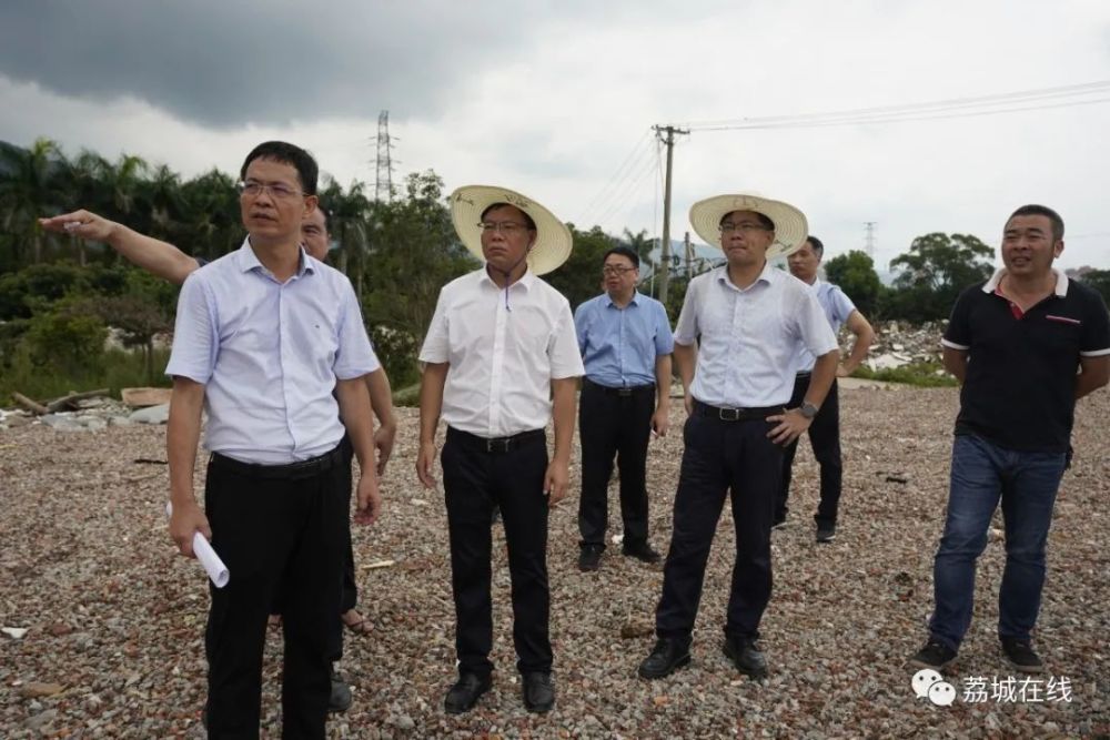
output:
[[[722,247],[727,264],[690,281],[675,328],[686,445],[655,615],[658,640],[639,675],[663,678],[689,662],[709,547],[730,493],[736,561],[723,647],[737,670],[763,678],[767,666],[756,639],[770,599],[783,446],[817,415],[839,352],[813,291],[767,262],[805,241],[800,211],[755,195],[718,195],[695,203],[690,223]],[[817,359],[801,405],[787,408],[799,346]]]

